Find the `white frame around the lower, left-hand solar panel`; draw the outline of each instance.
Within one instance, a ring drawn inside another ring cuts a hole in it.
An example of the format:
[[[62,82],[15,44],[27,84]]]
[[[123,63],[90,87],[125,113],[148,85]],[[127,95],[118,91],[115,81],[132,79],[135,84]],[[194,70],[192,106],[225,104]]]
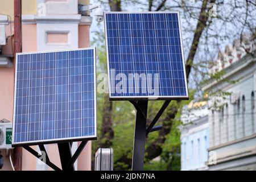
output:
[[[93,66],[94,66],[94,135],[86,136],[86,137],[69,137],[69,138],[57,138],[57,139],[46,139],[46,140],[32,140],[28,142],[14,142],[15,138],[15,112],[16,112],[16,81],[17,81],[17,67],[18,67],[18,55],[29,55],[34,53],[48,53],[48,52],[67,52],[67,51],[82,51],[82,50],[93,50]],[[88,47],[88,48],[76,48],[76,49],[61,49],[61,50],[55,50],[55,51],[36,51],[36,52],[21,52],[16,53],[16,64],[15,64],[15,84],[14,84],[14,107],[13,107],[13,137],[12,137],[12,146],[22,146],[28,145],[28,144],[34,144],[35,143],[54,143],[54,142],[61,142],[66,140],[81,140],[81,139],[95,139],[97,138],[97,113],[96,113],[96,47]]]

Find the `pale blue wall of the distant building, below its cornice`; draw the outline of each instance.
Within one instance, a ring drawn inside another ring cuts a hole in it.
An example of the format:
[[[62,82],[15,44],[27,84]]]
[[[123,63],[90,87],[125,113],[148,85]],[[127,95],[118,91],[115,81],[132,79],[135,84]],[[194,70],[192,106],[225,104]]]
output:
[[[207,167],[209,128],[196,131],[181,138],[181,170]]]

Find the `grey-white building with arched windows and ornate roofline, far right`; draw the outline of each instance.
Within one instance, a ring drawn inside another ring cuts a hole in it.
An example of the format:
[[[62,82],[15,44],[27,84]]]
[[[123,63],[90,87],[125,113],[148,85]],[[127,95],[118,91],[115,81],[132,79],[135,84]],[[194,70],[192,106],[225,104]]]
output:
[[[209,80],[203,90],[230,93],[211,97],[209,105],[209,170],[256,170],[256,57],[255,40],[244,36],[220,52],[211,73],[224,71],[218,81]],[[225,81],[224,81],[225,79]],[[230,83],[229,81],[235,81]],[[211,162],[210,162],[211,161]]]

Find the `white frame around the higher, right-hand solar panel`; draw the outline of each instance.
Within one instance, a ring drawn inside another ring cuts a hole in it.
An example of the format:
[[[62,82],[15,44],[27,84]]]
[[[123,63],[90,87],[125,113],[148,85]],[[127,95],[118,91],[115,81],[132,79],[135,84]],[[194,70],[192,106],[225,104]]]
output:
[[[110,68],[109,68],[109,50],[108,50],[108,34],[106,30],[106,14],[177,14],[178,17],[178,26],[179,26],[179,33],[180,33],[180,46],[181,46],[181,55],[182,55],[182,62],[183,62],[183,69],[184,69],[184,80],[185,80],[185,87],[186,87],[186,96],[111,96],[111,85],[110,85]],[[106,42],[106,57],[107,57],[107,64],[108,64],[108,82],[109,82],[109,99],[110,100],[129,100],[129,99],[148,99],[148,100],[162,100],[165,98],[166,100],[174,99],[184,99],[188,100],[188,86],[187,86],[187,78],[185,72],[185,61],[184,61],[184,51],[183,51],[183,41],[181,35],[181,24],[180,24],[180,13],[179,11],[142,11],[142,12],[131,12],[131,11],[105,11],[104,12],[104,29],[105,29],[105,42]]]

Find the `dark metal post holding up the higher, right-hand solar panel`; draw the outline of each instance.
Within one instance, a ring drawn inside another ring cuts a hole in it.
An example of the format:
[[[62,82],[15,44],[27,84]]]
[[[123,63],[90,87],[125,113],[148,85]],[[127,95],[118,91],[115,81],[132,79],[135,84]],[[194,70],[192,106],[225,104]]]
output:
[[[144,113],[144,116],[147,117],[148,101],[138,101],[137,103],[141,108],[141,111]],[[143,170],[147,122],[145,117],[137,111],[134,130],[133,163],[131,166],[133,171]]]

